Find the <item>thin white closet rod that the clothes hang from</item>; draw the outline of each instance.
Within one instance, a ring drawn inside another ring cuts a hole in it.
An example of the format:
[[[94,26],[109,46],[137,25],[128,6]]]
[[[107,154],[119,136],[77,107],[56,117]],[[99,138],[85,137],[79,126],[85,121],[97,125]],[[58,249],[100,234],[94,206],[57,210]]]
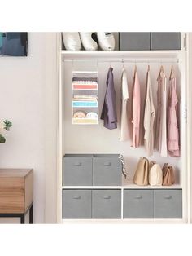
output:
[[[154,59],[154,58],[145,58],[145,59],[63,59],[64,62],[97,62],[97,63],[179,63],[179,59]]]

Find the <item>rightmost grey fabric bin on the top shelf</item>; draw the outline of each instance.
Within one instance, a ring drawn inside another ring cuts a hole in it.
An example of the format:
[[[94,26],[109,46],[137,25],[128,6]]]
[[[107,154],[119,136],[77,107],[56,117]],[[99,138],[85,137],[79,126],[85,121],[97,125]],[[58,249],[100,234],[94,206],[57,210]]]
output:
[[[181,33],[151,33],[151,50],[181,50]]]

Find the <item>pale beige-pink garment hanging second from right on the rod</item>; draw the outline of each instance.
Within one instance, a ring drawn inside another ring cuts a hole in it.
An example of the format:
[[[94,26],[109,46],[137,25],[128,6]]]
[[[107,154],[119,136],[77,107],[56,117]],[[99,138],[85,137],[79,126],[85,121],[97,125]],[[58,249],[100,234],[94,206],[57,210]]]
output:
[[[164,71],[157,78],[157,121],[155,145],[161,157],[167,157],[167,78]]]

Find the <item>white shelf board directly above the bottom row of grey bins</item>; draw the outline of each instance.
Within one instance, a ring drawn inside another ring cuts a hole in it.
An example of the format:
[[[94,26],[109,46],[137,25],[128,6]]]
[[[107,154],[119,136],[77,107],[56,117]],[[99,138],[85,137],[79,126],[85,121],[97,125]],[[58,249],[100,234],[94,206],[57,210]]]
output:
[[[172,186],[137,186],[130,183],[125,186],[62,186],[62,189],[181,189],[181,185],[174,184]]]

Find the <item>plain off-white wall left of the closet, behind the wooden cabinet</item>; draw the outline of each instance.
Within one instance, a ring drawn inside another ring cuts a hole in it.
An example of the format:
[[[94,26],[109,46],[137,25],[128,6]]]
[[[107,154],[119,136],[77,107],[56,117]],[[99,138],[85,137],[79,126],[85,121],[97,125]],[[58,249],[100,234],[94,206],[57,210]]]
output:
[[[45,152],[50,129],[45,99],[48,83],[55,77],[54,69],[46,70],[55,64],[55,38],[55,33],[28,33],[27,57],[0,57],[0,120],[13,123],[7,142],[0,144],[0,167],[33,168],[35,223],[45,222]]]

